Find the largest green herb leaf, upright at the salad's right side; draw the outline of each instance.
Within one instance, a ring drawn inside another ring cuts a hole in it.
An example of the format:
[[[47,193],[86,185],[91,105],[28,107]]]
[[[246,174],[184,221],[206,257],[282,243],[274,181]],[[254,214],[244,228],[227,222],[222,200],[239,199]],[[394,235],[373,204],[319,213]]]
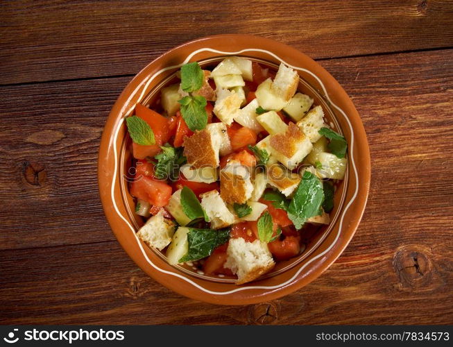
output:
[[[323,201],[324,192],[321,181],[311,172],[305,171],[288,206],[288,217],[296,229],[302,228],[307,219],[319,214]]]

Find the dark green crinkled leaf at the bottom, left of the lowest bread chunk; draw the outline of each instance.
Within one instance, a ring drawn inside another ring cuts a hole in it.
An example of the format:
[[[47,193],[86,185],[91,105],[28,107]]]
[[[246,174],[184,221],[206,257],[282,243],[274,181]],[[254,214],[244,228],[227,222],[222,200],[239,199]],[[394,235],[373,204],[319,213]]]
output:
[[[189,229],[187,233],[189,250],[179,262],[189,262],[208,257],[216,247],[225,244],[230,239],[230,229]]]

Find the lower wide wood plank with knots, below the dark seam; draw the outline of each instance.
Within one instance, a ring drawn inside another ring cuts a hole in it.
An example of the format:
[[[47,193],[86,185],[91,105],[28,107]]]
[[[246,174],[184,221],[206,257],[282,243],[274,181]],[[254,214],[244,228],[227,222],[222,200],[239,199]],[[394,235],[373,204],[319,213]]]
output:
[[[368,134],[364,218],[323,276],[241,307],[165,289],[114,241],[96,151],[128,78],[1,87],[0,323],[453,323],[453,50],[322,65]]]

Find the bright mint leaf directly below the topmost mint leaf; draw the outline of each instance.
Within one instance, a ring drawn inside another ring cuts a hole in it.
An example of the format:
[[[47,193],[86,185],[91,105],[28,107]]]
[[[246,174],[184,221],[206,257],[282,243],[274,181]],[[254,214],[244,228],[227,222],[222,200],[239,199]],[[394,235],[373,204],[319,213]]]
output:
[[[207,125],[207,101],[204,96],[185,96],[178,101],[181,115],[190,130],[203,130]]]

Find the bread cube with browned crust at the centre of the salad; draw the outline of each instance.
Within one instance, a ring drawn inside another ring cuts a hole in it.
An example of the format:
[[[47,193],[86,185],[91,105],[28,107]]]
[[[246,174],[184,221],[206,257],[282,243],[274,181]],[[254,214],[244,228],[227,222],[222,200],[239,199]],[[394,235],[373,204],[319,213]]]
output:
[[[253,184],[248,167],[230,160],[220,171],[220,194],[226,203],[246,203],[252,196]]]

